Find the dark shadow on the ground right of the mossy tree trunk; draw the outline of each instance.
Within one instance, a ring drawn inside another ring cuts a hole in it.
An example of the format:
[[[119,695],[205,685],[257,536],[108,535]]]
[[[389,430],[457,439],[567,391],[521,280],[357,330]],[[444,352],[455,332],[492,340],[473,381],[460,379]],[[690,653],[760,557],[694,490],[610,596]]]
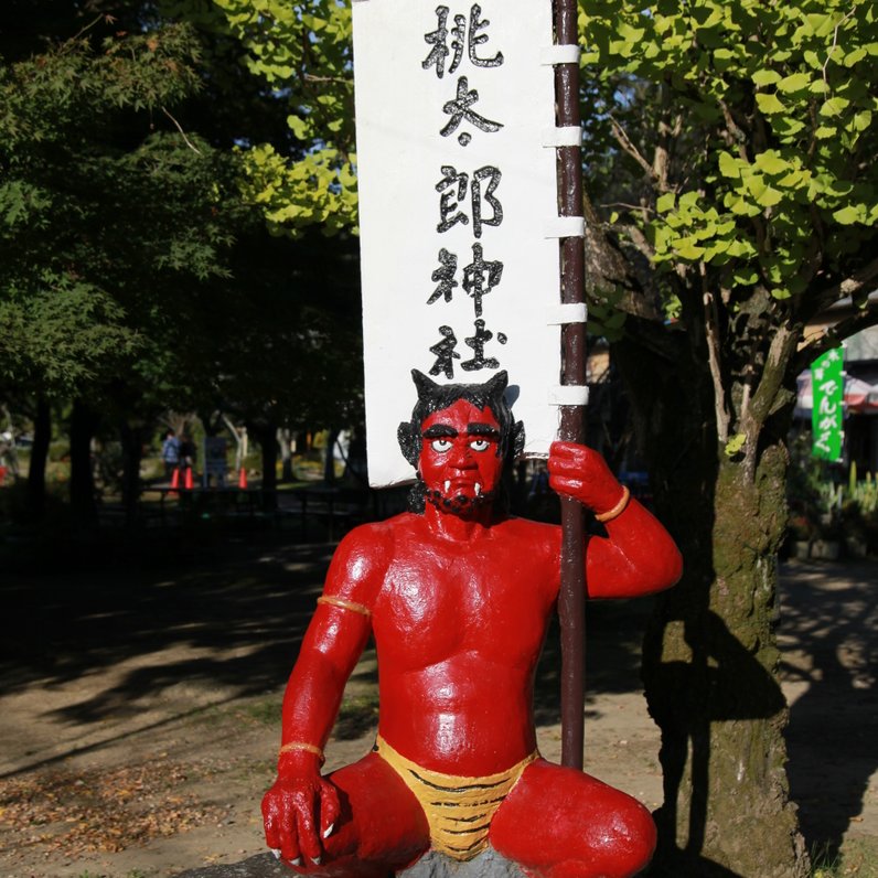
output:
[[[790,794],[809,848],[833,861],[878,763],[878,565],[795,565],[784,574],[793,575],[781,640],[811,662],[783,663],[785,679],[806,686],[790,710]]]

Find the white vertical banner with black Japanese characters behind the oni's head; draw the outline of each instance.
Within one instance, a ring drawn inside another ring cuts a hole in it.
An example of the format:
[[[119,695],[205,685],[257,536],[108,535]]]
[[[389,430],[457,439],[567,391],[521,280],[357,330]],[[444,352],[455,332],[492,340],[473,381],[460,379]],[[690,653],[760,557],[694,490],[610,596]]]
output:
[[[570,234],[552,1],[354,0],[353,15],[370,482],[414,477],[396,443],[413,368],[440,384],[506,370],[525,453],[545,453],[558,428],[557,238]]]

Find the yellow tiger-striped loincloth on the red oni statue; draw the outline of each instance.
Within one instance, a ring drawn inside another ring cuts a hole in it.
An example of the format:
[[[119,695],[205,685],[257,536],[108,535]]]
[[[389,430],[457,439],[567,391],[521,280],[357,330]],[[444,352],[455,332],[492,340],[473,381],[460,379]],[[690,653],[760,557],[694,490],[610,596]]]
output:
[[[491,820],[503,800],[538,756],[486,778],[462,778],[421,768],[394,750],[381,736],[375,751],[420,802],[430,827],[432,849],[457,860],[472,859],[488,847]]]

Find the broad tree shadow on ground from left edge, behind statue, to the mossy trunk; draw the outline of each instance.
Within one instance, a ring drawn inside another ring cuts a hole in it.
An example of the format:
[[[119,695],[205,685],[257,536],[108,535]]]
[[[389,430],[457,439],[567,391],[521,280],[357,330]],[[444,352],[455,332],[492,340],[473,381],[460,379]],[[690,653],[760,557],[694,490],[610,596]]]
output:
[[[103,688],[38,718],[94,728],[136,718],[157,693],[175,686],[214,692],[216,703],[278,692],[333,549],[333,544],[299,545],[265,534],[186,544],[168,532],[121,548],[88,547],[90,554],[81,547],[78,554],[54,555],[44,569],[8,574],[0,583],[7,608],[0,623],[0,695],[57,689],[113,672]],[[597,694],[640,688],[647,613],[649,600],[590,604],[592,715]],[[556,623],[538,673],[540,725],[559,721],[560,665]],[[361,663],[336,737],[357,738],[375,726],[376,681],[375,663]]]

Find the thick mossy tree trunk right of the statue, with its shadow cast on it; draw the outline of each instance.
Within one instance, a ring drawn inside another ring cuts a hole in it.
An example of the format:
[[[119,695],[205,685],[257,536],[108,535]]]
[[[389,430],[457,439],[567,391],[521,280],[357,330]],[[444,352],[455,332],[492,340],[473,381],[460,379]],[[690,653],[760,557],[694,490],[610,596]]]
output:
[[[786,454],[765,429],[756,478],[717,450],[709,378],[620,345],[656,513],[683,552],[643,656],[662,732],[664,803],[652,876],[804,878],[788,801],[774,633]]]

